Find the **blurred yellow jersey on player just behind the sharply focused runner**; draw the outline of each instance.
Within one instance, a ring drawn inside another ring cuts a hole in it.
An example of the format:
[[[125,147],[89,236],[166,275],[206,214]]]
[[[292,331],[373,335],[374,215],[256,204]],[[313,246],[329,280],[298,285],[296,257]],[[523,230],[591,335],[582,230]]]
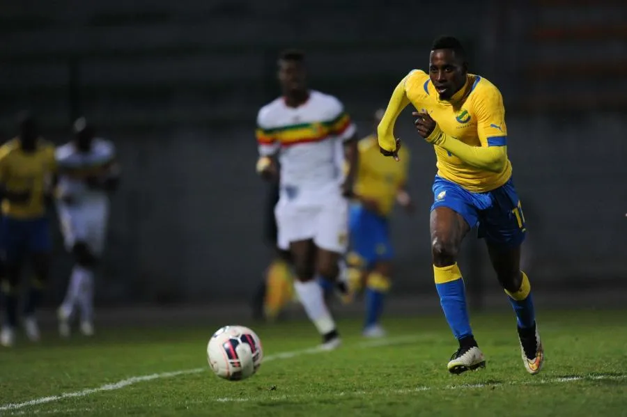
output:
[[[398,152],[400,162],[384,157],[379,151],[376,136],[367,136],[359,141],[358,149],[355,194],[376,201],[379,213],[387,217],[392,212],[398,190],[407,180],[410,154],[407,148],[401,148]]]

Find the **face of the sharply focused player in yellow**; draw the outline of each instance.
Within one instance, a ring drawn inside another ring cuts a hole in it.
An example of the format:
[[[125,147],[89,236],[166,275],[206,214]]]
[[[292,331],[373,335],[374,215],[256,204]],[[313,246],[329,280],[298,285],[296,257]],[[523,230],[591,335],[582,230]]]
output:
[[[441,100],[450,100],[466,82],[466,65],[451,49],[431,51],[429,77]]]

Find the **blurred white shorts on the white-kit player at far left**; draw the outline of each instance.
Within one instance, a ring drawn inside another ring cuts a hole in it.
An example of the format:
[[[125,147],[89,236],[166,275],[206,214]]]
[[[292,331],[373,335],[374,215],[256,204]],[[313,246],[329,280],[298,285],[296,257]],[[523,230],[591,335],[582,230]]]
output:
[[[76,242],[85,242],[93,255],[101,255],[107,239],[109,205],[91,204],[77,207],[59,204],[59,221],[65,248],[71,251]]]

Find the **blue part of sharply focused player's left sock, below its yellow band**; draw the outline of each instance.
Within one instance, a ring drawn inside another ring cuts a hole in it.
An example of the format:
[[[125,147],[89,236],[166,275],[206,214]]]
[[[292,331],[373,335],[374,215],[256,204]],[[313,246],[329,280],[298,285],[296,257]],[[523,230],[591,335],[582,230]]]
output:
[[[435,288],[440,294],[440,305],[454,336],[457,339],[472,336],[463,279],[435,284]]]

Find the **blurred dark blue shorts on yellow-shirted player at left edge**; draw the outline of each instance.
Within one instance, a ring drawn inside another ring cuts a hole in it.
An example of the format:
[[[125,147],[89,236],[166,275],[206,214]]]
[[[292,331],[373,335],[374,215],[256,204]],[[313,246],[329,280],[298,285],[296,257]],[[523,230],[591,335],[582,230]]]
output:
[[[3,217],[0,239],[7,262],[19,261],[26,253],[47,253],[52,250],[47,217],[38,219]]]

